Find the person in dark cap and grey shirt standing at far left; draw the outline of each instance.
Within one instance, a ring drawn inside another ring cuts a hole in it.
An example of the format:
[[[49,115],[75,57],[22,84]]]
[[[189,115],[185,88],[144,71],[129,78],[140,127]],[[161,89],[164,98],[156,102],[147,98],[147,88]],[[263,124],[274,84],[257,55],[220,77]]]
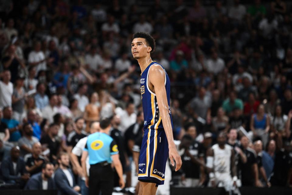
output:
[[[23,119],[23,111],[27,94],[24,89],[24,77],[17,76],[12,94],[13,118],[19,122]]]

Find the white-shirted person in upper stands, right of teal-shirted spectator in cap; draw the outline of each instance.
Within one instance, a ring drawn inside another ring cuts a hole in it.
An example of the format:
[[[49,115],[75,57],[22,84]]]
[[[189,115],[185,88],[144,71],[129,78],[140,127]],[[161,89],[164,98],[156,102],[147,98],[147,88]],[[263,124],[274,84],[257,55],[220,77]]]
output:
[[[224,68],[224,60],[218,57],[218,53],[216,51],[213,51],[211,58],[206,62],[206,69],[208,72],[217,75],[218,73],[222,72]]]

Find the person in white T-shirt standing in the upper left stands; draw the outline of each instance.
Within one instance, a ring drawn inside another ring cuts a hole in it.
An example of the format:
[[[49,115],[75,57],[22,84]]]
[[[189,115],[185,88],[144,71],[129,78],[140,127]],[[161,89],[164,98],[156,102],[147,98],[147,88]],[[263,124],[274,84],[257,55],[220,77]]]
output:
[[[40,70],[47,70],[45,54],[40,49],[41,43],[40,41],[36,41],[34,44],[34,50],[28,55],[28,62],[30,66],[36,67],[36,73]]]

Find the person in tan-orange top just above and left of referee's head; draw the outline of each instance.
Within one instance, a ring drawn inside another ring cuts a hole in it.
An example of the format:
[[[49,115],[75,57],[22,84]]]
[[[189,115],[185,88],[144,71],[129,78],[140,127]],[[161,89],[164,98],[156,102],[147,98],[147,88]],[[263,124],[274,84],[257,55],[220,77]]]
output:
[[[90,96],[90,103],[86,105],[85,112],[84,112],[84,120],[86,122],[86,129],[85,131],[89,132],[90,123],[93,121],[99,121],[100,115],[100,107],[97,105],[98,102],[98,94],[96,92],[92,93]]]

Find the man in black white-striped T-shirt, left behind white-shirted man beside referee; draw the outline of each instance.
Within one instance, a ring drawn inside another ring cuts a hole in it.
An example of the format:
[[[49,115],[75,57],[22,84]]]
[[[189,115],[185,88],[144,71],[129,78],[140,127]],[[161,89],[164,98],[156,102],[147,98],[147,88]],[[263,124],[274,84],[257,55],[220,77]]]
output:
[[[86,137],[86,135],[82,133],[84,132],[83,126],[84,126],[83,118],[78,118],[75,120],[75,129],[67,137],[68,151],[71,152],[71,150],[73,149],[73,147],[75,147],[77,142],[83,137]]]

